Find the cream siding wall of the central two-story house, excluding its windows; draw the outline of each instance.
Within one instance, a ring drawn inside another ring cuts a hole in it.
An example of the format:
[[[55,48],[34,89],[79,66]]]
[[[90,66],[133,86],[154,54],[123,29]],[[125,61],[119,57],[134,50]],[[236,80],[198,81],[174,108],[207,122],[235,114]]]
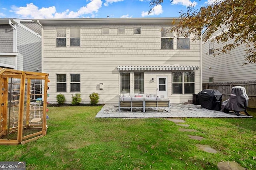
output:
[[[102,35],[102,27],[109,27],[109,35]],[[125,35],[118,35],[118,27],[125,27]],[[141,27],[141,35],[134,35],[134,27]],[[80,73],[81,98],[90,103],[89,94],[97,92],[100,103],[118,103],[122,65],[200,65],[200,42],[192,42],[190,49],[161,49],[160,28],[170,25],[43,25],[43,72],[49,73],[48,101],[55,102],[57,94],[64,94],[70,103],[70,74]],[[56,47],[56,28],[66,28],[67,47]],[[80,28],[80,47],[70,47],[70,28]],[[132,75],[130,72],[130,89]],[[156,76],[168,76],[168,98],[171,103],[192,100],[192,94],[172,94],[172,71],[143,71],[144,93],[156,93]],[[56,74],[66,74],[67,92],[56,92]],[[103,90],[99,84],[103,83]],[[200,92],[200,69],[195,71],[195,93]]]

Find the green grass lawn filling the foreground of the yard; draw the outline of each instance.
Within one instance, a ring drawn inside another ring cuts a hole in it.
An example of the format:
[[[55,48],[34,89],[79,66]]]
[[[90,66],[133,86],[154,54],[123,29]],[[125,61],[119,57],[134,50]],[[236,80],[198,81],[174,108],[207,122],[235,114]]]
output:
[[[25,161],[28,170],[217,170],[221,161],[256,169],[255,118],[187,118],[190,127],[181,127],[167,119],[96,119],[101,106],[48,108],[47,135],[0,145],[0,161]]]

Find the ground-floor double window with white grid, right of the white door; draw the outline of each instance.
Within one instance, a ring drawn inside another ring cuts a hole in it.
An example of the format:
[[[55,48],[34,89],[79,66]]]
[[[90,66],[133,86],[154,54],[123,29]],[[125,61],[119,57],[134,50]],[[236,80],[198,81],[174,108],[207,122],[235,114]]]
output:
[[[194,94],[195,72],[173,72],[172,94]]]

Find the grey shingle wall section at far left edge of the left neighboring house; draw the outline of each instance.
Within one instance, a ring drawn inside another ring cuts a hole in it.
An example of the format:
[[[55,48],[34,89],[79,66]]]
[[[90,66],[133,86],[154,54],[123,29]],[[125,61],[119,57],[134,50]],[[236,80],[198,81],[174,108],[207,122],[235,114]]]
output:
[[[0,52],[13,53],[13,28],[10,25],[0,25]]]

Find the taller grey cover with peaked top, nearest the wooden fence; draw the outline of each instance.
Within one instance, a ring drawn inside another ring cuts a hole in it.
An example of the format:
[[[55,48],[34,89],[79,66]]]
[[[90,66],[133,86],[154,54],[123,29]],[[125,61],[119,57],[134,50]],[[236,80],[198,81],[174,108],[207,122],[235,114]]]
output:
[[[222,102],[221,110],[246,111],[248,100],[249,97],[247,96],[244,87],[232,87],[229,99]]]

